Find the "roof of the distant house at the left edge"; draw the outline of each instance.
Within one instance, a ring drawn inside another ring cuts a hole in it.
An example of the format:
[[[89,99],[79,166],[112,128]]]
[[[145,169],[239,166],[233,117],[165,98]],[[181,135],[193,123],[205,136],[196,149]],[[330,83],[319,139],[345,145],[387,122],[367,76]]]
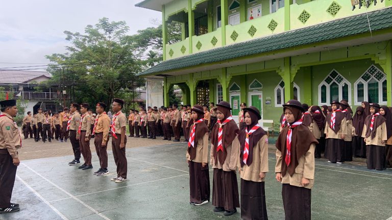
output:
[[[24,84],[39,77],[49,79],[51,74],[43,71],[0,70],[0,84]]]

